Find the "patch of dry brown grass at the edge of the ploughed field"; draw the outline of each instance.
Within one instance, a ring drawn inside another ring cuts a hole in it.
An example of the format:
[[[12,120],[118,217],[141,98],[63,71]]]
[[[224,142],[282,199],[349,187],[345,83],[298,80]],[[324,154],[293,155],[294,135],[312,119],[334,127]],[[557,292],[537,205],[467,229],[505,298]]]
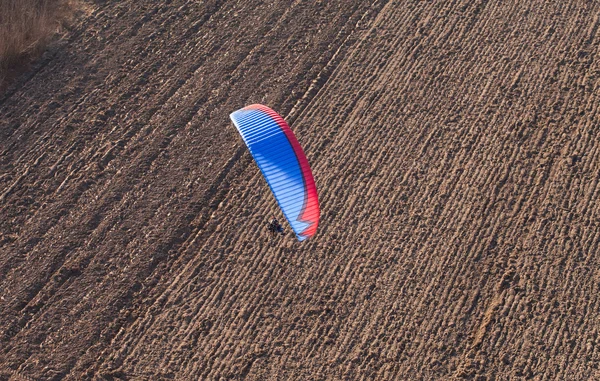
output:
[[[44,50],[73,10],[69,0],[0,0],[0,84]]]

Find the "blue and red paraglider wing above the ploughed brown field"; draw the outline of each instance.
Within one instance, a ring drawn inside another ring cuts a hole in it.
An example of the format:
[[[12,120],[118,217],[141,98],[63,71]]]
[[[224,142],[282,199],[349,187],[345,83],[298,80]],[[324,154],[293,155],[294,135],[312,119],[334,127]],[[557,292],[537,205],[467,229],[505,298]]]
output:
[[[298,240],[319,224],[317,188],[304,151],[279,114],[250,105],[230,115]]]

